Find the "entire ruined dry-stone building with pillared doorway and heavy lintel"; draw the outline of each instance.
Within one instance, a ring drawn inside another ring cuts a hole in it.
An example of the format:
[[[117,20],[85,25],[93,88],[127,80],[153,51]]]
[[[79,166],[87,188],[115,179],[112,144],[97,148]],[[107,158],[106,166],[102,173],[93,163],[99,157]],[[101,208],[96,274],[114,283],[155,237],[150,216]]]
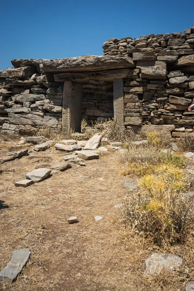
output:
[[[32,135],[81,131],[114,117],[119,127],[193,132],[194,27],[181,32],[112,38],[103,56],[16,59],[0,71],[0,131]]]

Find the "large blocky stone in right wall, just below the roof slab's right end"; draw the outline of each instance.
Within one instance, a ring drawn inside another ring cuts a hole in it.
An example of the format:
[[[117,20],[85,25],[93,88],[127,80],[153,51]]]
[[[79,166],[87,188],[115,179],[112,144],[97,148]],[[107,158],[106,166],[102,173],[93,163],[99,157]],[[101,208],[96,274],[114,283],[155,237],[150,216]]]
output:
[[[150,80],[165,80],[167,75],[166,69],[160,67],[142,67],[141,77]]]

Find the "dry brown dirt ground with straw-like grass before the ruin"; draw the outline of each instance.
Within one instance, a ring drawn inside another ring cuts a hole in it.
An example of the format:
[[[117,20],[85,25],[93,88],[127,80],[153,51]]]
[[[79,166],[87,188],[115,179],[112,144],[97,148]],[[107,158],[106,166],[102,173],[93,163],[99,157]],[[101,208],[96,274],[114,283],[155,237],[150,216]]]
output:
[[[0,144],[1,153],[22,148],[32,149],[32,145]],[[27,188],[15,187],[26,173],[49,168],[64,155],[52,147],[0,165],[0,269],[14,250],[31,251],[30,261],[16,282],[0,283],[0,290],[163,290],[160,284],[150,289],[150,281],[144,280],[145,258],[157,248],[148,247],[143,239],[127,238],[121,210],[114,207],[128,191],[116,152],[110,150],[99,160],[86,161],[85,167],[77,165],[54,173]],[[72,215],[78,215],[78,224],[67,223]],[[96,222],[96,215],[103,219]],[[171,253],[184,256],[182,246]],[[178,281],[175,288],[165,290],[181,291],[184,289],[178,287],[184,285],[184,280]]]

